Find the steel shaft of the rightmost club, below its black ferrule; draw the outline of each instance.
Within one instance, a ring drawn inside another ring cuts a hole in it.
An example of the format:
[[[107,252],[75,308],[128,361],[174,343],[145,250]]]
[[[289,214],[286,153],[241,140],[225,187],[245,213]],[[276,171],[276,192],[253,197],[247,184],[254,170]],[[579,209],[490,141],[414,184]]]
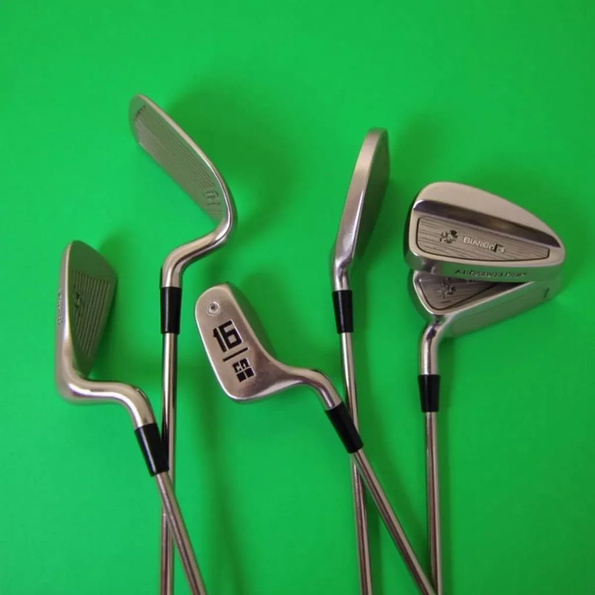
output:
[[[440,551],[440,487],[436,412],[425,414],[425,480],[430,538],[430,568],[436,595],[442,595],[442,556]]]

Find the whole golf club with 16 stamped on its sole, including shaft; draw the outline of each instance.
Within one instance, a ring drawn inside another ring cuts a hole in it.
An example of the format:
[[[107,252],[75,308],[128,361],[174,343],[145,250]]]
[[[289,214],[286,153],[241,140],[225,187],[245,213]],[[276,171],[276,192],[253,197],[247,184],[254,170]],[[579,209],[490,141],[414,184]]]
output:
[[[365,481],[384,524],[420,593],[434,595],[415,553],[387,500],[367,457],[349,411],[330,380],[321,372],[295,368],[277,361],[265,348],[237,302],[239,292],[228,284],[206,290],[196,302],[195,317],[215,376],[227,396],[251,402],[305,384],[320,398],[328,419]],[[241,298],[240,298],[241,299]]]

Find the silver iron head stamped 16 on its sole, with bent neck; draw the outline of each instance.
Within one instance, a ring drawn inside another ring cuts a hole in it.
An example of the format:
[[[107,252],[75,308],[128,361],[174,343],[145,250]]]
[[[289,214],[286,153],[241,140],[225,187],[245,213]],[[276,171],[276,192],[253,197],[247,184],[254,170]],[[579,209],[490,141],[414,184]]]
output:
[[[246,403],[306,384],[325,409],[339,405],[339,395],[322,372],[282,364],[265,349],[238,298],[245,301],[229,284],[216,285],[198,298],[195,308],[206,355],[227,396]]]

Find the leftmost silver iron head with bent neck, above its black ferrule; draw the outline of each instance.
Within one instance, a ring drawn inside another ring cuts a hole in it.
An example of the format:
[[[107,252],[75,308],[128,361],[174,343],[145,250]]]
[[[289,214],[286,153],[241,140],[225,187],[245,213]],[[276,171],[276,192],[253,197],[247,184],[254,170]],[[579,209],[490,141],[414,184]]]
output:
[[[154,422],[145,395],[127,384],[89,380],[108,320],[116,275],[98,252],[83,242],[64,250],[58,285],[54,372],[58,393],[72,402],[118,402],[135,428]]]

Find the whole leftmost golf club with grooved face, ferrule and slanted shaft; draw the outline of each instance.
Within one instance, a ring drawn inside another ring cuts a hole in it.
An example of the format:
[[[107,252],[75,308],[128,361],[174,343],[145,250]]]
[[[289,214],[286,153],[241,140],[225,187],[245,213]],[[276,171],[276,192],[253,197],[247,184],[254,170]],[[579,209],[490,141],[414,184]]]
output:
[[[89,380],[93,359],[116,285],[116,275],[98,252],[83,242],[64,251],[56,315],[55,382],[73,403],[117,403],[127,409],[149,473],[180,552],[192,595],[206,595],[201,573],[168,475],[167,456],[155,416],[145,394],[134,386]]]

